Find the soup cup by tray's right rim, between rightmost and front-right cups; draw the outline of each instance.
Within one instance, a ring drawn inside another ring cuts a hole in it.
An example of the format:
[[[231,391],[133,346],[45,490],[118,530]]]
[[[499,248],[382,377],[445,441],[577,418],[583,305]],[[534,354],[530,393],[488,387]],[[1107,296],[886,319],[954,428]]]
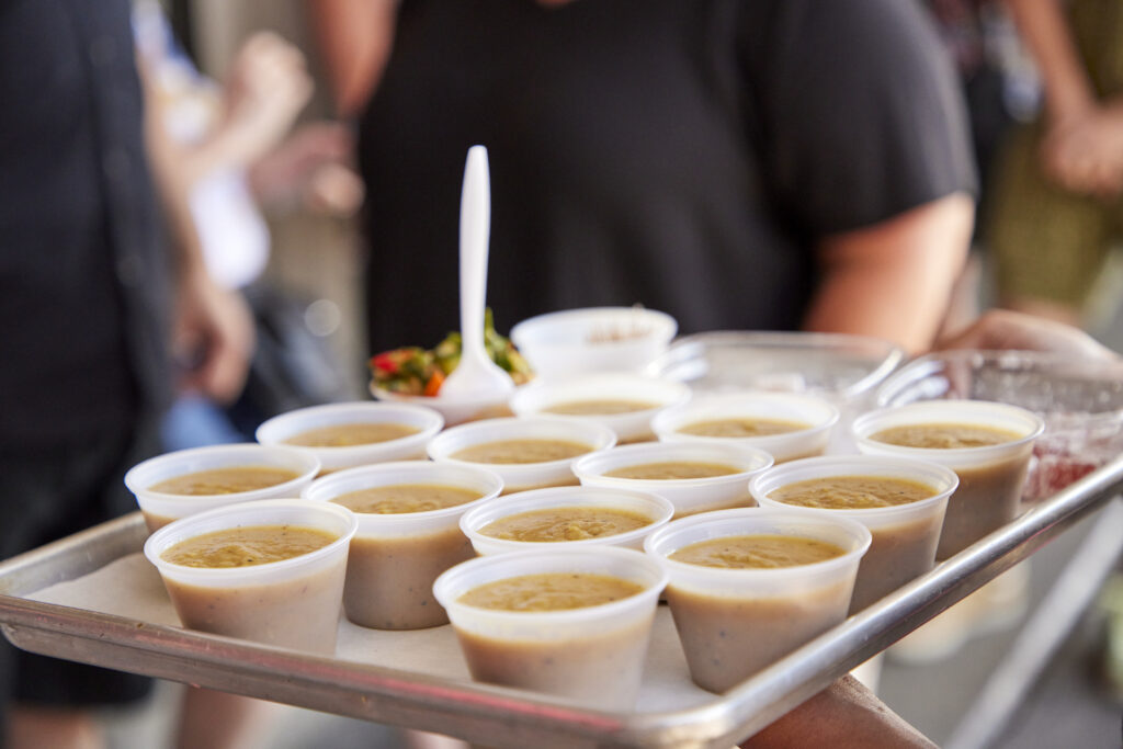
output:
[[[763,508],[805,510],[857,520],[873,540],[861,558],[850,613],[861,611],[932,569],[948,497],[950,468],[911,458],[848,455],[793,460],[755,477]]]

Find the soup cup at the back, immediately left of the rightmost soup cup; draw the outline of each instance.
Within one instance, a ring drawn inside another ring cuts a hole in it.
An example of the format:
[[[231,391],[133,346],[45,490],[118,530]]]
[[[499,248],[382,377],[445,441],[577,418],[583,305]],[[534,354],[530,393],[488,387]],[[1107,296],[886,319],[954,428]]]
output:
[[[651,420],[666,442],[731,442],[769,453],[776,463],[822,455],[838,423],[824,399],[792,393],[721,393],[668,409]]]

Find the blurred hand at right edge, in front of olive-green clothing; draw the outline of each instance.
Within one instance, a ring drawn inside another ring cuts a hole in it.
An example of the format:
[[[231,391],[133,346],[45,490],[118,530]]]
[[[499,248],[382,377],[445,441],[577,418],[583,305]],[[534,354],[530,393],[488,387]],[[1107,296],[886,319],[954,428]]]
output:
[[[1041,158],[1046,174],[1066,190],[1115,198],[1123,191],[1123,111],[1096,106],[1054,124]]]

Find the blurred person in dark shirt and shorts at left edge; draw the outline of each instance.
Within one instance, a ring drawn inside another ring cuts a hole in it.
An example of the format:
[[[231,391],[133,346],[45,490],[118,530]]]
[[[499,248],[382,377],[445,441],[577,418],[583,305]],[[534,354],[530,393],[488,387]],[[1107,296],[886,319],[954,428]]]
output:
[[[208,274],[162,130],[146,127],[129,10],[0,6],[2,558],[136,509],[122,475],[158,451],[173,376],[220,401],[245,378],[249,317]],[[0,736],[98,747],[92,707],[148,686],[3,642]]]

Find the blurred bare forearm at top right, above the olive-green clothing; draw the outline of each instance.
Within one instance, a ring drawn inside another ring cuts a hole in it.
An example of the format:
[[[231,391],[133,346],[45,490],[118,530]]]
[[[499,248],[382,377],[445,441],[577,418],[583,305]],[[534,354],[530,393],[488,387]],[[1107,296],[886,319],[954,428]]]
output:
[[[1046,91],[1046,113],[1057,125],[1081,116],[1095,94],[1080,63],[1060,0],[1006,0]]]

